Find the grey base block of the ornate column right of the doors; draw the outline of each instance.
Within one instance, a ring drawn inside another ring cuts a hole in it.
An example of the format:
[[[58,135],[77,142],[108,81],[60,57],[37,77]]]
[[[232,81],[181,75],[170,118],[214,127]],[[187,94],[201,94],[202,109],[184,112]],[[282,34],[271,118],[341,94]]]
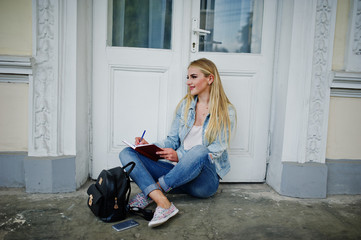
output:
[[[284,162],[280,194],[298,198],[326,198],[327,166]]]

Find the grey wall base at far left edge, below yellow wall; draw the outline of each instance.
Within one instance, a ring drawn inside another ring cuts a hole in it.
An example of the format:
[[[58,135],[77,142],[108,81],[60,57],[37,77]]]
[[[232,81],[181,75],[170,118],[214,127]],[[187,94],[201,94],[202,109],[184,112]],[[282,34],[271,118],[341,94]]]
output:
[[[24,187],[24,158],[27,152],[0,153],[0,187]]]

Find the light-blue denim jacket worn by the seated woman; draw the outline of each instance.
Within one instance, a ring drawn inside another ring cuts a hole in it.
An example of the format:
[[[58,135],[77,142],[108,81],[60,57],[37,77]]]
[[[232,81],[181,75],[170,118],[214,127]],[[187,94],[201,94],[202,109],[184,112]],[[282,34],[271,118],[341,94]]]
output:
[[[191,102],[188,111],[188,119],[187,123],[184,121],[184,112],[185,112],[185,105],[186,100],[183,100],[180,107],[178,108],[175,118],[172,122],[171,129],[168,133],[168,136],[165,140],[156,143],[161,148],[172,148],[176,150],[178,154],[178,159],[181,159],[186,150],[184,150],[184,139],[191,130],[194,125],[195,117],[196,117],[196,104],[197,104],[197,97]],[[231,130],[234,128],[235,119],[236,119],[236,112],[233,107],[228,107],[229,118],[231,121]],[[227,138],[224,138],[223,132],[214,140],[212,143],[209,143],[205,138],[205,129],[209,124],[210,114],[206,116],[206,119],[203,123],[203,130],[202,130],[202,143],[206,146],[209,150],[208,159],[215,164],[217,174],[220,178],[223,178],[230,170],[231,166],[228,160],[228,131],[227,131]]]

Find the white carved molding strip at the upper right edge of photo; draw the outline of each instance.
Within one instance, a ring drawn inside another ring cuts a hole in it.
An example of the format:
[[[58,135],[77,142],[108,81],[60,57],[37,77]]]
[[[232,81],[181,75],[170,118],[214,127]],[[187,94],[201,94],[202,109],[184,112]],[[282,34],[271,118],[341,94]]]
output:
[[[361,0],[351,0],[345,70],[361,72]]]

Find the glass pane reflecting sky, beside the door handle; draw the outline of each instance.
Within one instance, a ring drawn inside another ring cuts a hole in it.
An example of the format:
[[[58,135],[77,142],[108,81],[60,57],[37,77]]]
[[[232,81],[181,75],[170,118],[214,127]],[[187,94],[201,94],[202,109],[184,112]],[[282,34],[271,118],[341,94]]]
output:
[[[200,52],[260,53],[263,0],[201,0]]]

